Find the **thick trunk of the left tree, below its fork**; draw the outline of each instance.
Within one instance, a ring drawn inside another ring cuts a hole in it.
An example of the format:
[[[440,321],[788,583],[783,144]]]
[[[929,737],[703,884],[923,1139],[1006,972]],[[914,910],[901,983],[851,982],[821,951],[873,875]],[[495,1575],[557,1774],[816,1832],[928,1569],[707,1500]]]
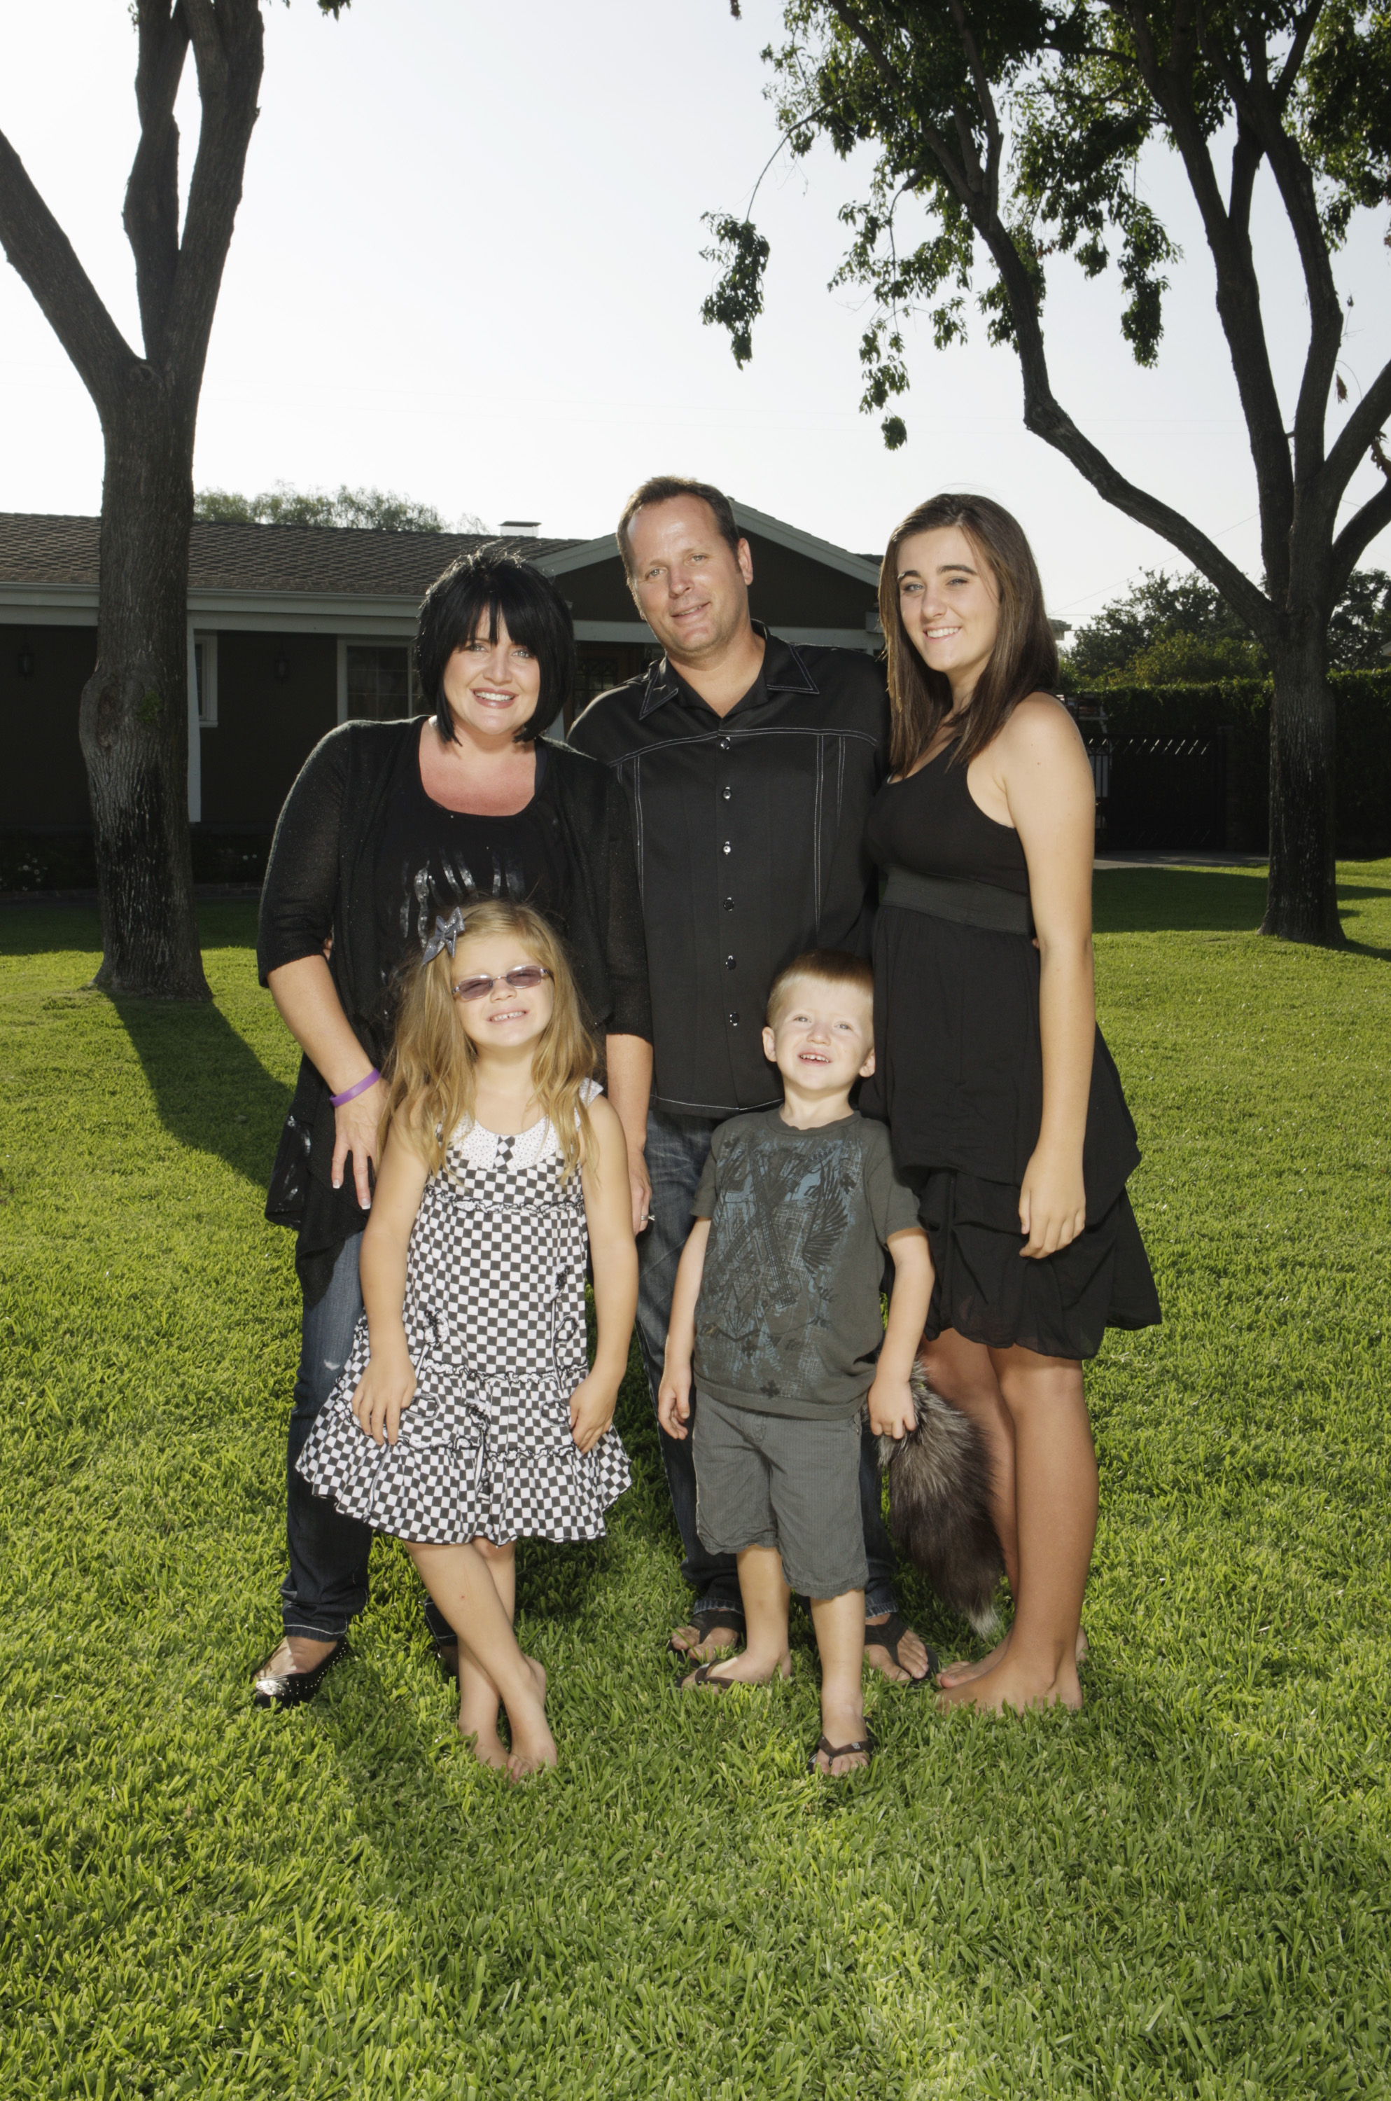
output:
[[[147,998],[210,998],[189,843],[193,416],[137,366],[105,427],[97,668],[80,737],[92,798],[101,969]]]

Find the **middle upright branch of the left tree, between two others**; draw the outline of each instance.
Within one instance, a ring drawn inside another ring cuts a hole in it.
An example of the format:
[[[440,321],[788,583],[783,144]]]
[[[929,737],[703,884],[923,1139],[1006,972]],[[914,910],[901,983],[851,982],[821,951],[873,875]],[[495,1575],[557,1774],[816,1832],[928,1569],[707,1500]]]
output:
[[[141,143],[134,149],[122,225],[134,256],[145,355],[160,361],[168,303],[179,269],[179,126],[174,97],[189,48],[189,19],[174,0],[139,0],[139,63],[134,103]]]

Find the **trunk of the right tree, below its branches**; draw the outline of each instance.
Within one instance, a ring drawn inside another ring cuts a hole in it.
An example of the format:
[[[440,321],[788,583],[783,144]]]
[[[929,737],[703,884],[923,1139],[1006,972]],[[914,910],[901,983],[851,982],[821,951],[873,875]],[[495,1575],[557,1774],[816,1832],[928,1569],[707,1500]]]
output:
[[[1324,609],[1271,651],[1271,866],[1261,933],[1343,948],[1326,630]]]

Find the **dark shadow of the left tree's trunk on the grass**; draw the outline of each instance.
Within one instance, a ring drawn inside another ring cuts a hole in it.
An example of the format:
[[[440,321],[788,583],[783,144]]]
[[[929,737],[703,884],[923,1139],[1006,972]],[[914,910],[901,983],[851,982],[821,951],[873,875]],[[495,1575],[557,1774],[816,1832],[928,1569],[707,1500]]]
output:
[[[111,1000],[155,1111],[181,1145],[214,1153],[265,1189],[290,1088],[271,1078],[216,1006]]]

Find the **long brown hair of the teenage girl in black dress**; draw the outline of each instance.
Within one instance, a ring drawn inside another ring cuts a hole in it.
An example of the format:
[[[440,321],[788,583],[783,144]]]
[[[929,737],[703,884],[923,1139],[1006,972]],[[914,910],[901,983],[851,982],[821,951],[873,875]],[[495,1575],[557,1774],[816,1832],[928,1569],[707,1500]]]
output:
[[[1004,729],[1027,693],[1051,693],[1057,685],[1057,641],[1019,519],[988,496],[933,496],[893,527],[878,571],[878,618],[893,710],[889,763],[897,775],[912,771],[952,712],[946,672],[927,668],[908,639],[899,609],[899,546],[918,532],[939,532],[943,525],[964,532],[1000,599],[996,643],[975,681],[948,765],[969,765]]]

